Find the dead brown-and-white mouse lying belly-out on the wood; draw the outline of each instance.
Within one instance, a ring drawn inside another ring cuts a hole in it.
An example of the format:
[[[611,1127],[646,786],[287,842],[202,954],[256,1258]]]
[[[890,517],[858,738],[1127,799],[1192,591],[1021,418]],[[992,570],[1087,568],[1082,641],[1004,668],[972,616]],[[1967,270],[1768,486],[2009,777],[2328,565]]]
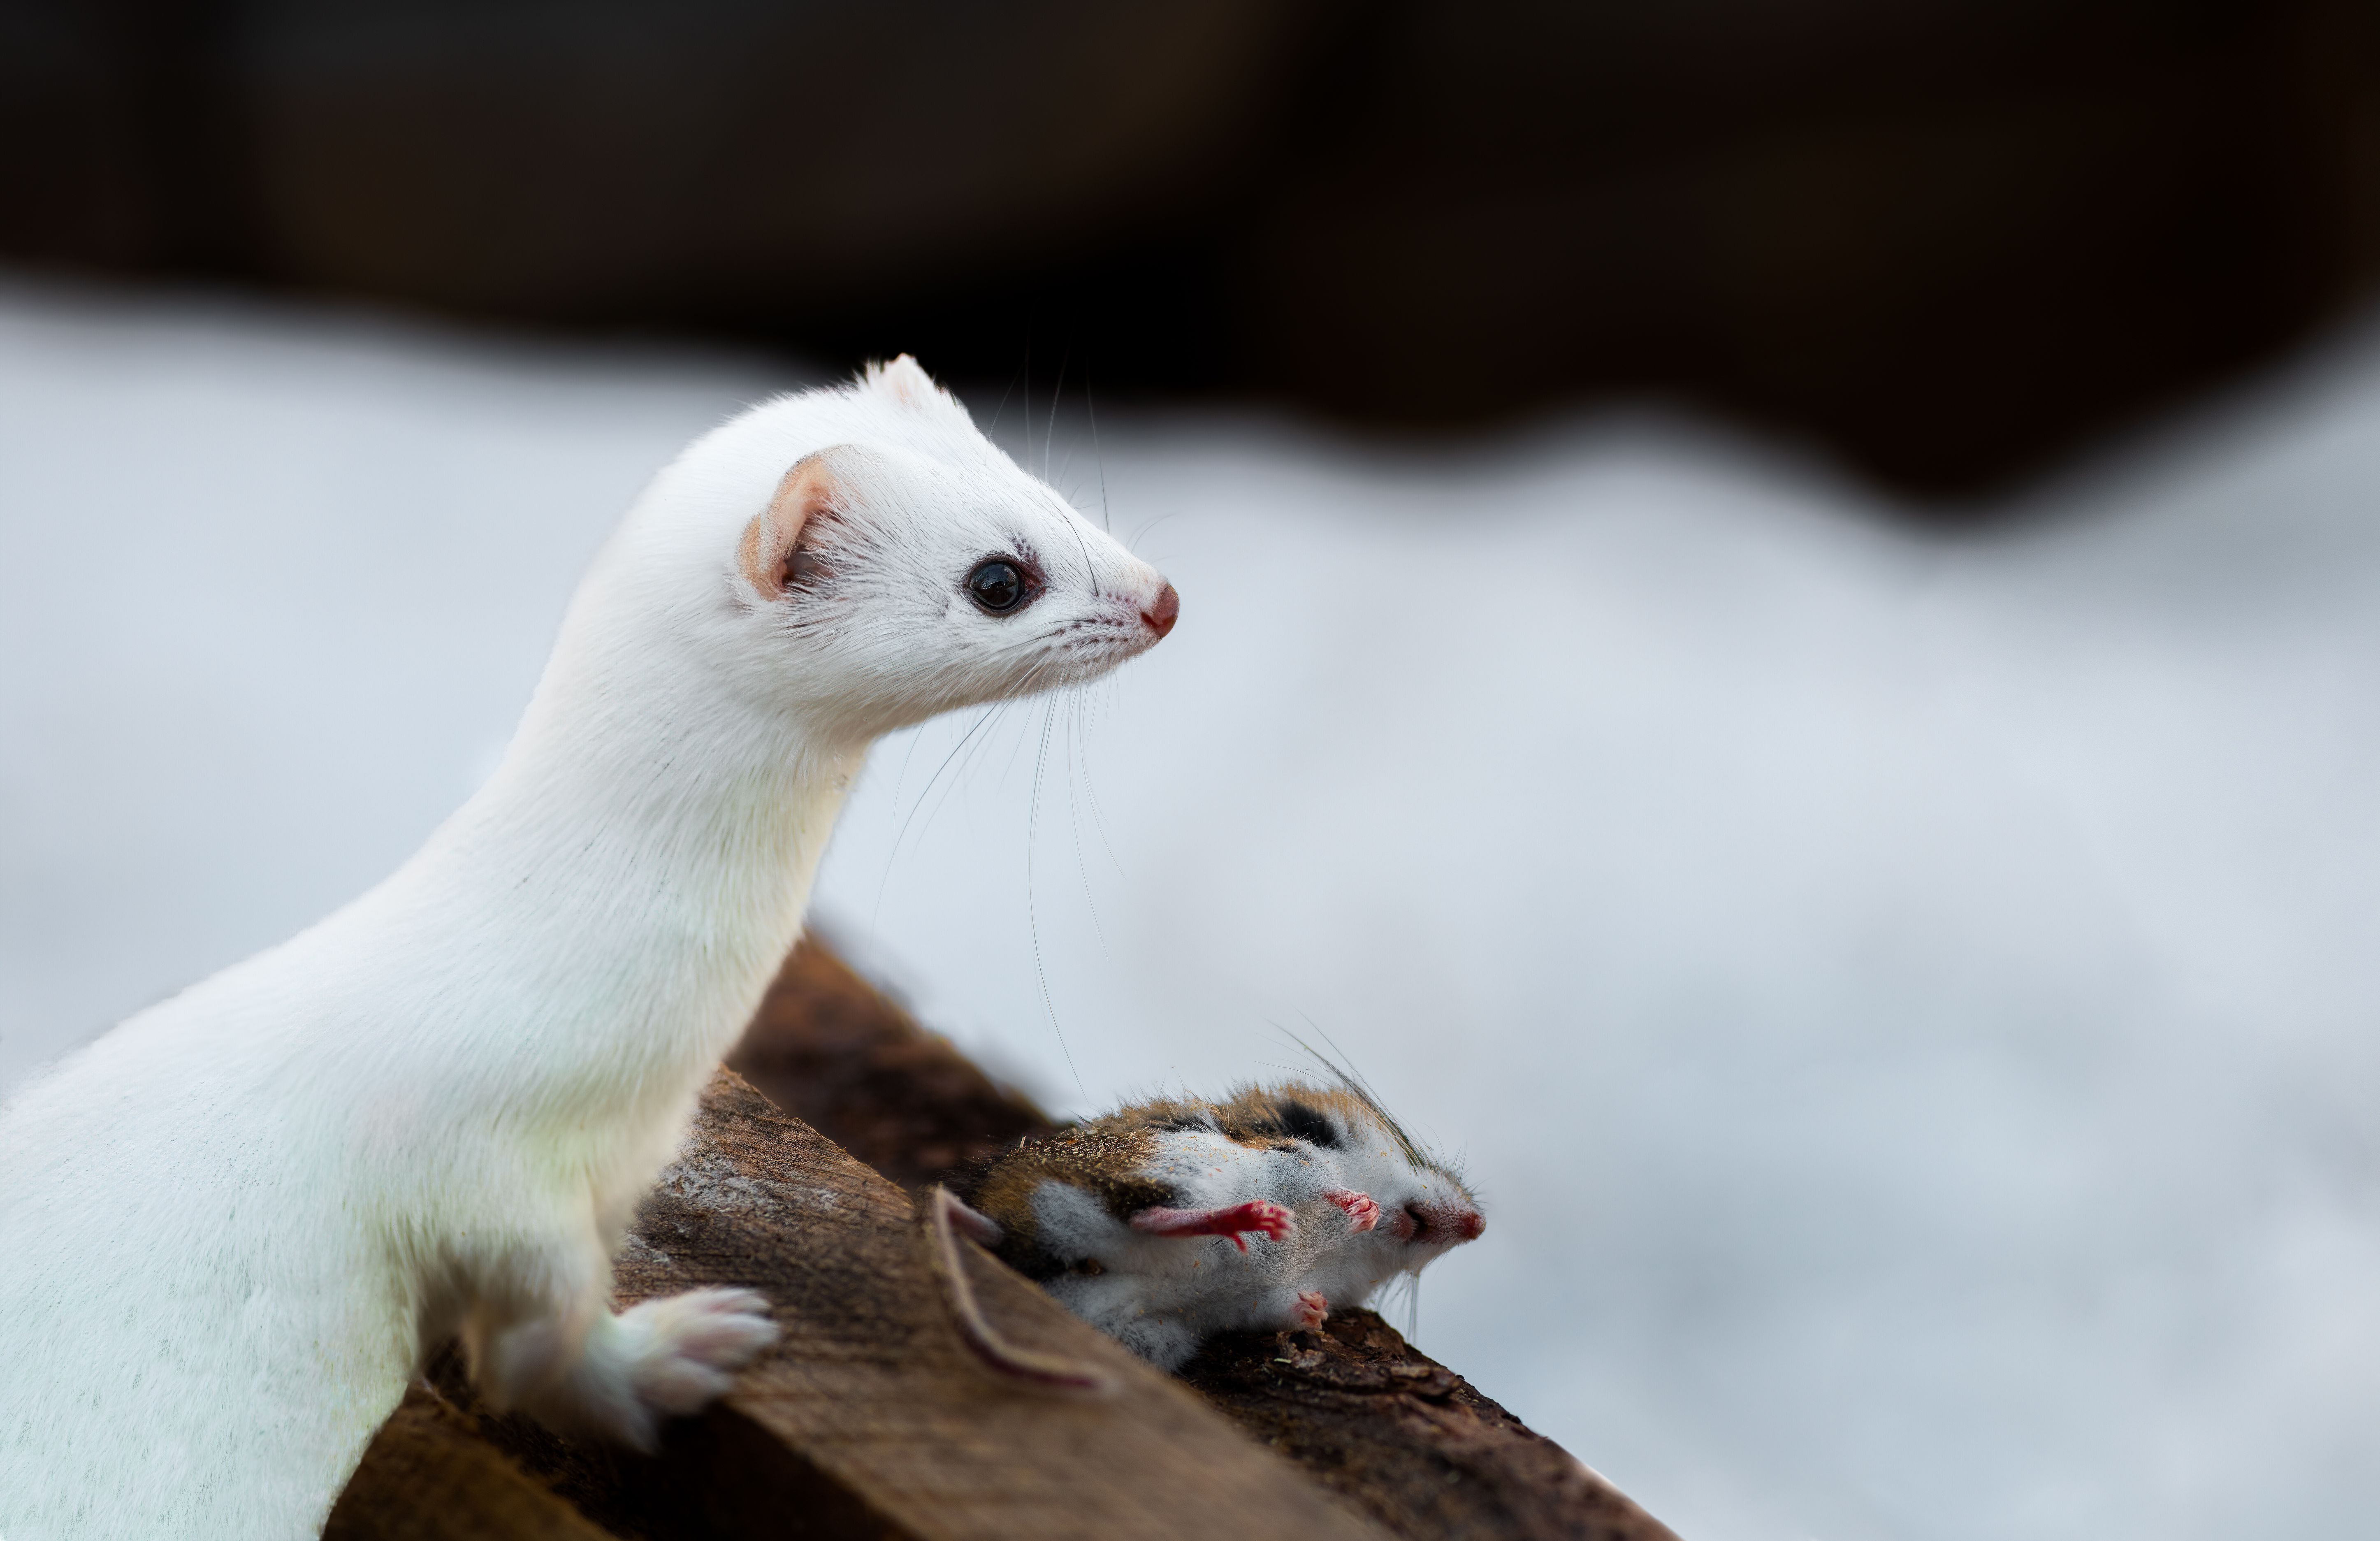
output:
[[[1135,1103],[1019,1143],[962,1198],[959,1229],[1159,1370],[1219,1331],[1319,1327],[1485,1229],[1357,1086]],[[1000,1367],[997,1339],[978,1353]]]

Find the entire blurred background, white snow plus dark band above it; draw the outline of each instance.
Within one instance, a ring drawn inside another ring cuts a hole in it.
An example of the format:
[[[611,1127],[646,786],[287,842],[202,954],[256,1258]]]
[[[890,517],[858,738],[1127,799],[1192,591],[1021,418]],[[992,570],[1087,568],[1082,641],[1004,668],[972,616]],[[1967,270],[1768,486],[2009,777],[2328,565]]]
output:
[[[1683,1534],[2380,1512],[2380,12],[0,0],[0,1091],[407,855],[916,353],[1183,591],[878,748],[1066,1110],[1323,1031]]]

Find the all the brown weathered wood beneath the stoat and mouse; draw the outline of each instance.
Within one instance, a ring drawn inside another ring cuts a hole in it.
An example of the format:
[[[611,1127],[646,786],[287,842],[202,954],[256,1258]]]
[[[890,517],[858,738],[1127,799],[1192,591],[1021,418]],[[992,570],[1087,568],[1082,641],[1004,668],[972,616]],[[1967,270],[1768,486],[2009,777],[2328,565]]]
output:
[[[802,1117],[921,1184],[1047,1127],[833,953],[804,943],[738,1048]],[[962,1348],[912,1198],[721,1072],[638,1212],[619,1300],[759,1289],[783,1341],[657,1458],[486,1412],[431,1365],[340,1501],[336,1541],[1668,1541],[1552,1441],[1368,1312],[1233,1336],[1190,1386],[964,1248],[1012,1341],[1090,1360],[1107,1400],[1016,1389]],[[1228,1422],[1226,1422],[1228,1420]],[[1254,1439],[1250,1439],[1254,1436]],[[1295,1462],[1295,1465],[1292,1465]]]

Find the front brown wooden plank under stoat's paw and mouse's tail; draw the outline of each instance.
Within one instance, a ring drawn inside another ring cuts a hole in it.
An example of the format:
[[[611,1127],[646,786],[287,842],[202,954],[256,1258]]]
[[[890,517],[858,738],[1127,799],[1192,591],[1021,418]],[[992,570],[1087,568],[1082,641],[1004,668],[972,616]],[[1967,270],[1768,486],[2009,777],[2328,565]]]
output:
[[[650,1541],[1385,1541],[1178,1381],[964,1248],[990,1324],[1107,1372],[1104,1398],[1019,1389],[962,1346],[909,1196],[733,1072],[688,1153],[638,1210],[621,1305],[707,1284],[757,1289],[783,1339],[659,1460],[526,1420],[483,1429],[621,1536]],[[466,1398],[452,1365],[440,1386]]]

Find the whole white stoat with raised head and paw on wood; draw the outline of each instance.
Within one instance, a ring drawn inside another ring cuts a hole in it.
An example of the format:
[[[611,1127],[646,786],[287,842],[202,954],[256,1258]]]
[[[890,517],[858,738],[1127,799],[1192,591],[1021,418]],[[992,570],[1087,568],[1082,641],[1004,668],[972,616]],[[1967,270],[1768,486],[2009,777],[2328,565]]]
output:
[[[614,1315],[609,1255],[869,743],[1173,612],[907,357],[690,445],[419,855],[0,1110],[0,1539],[314,1536],[452,1336],[497,1405],[628,1443],[716,1396],[764,1303]]]

